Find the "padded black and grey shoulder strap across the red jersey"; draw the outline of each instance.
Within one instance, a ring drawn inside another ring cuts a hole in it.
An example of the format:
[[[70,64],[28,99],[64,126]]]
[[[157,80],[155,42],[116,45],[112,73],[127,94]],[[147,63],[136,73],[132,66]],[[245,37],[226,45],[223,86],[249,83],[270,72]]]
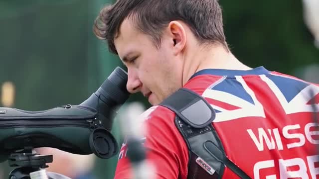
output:
[[[224,167],[227,166],[240,178],[250,179],[226,157],[223,145],[211,124],[215,119],[215,111],[202,96],[189,89],[181,88],[160,105],[176,113],[175,125],[187,144],[189,157],[193,156],[192,154],[197,157],[196,160],[189,159],[189,161],[195,161],[209,175],[216,172],[219,178],[222,177]],[[189,175],[196,174],[189,173]]]

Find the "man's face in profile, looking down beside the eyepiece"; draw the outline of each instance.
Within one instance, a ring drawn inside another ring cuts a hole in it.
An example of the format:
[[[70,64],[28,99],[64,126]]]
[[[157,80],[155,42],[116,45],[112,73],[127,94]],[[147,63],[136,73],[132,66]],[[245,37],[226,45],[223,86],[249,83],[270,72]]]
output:
[[[182,87],[182,59],[173,54],[173,39],[163,32],[160,48],[138,31],[132,20],[123,21],[115,47],[128,68],[127,89],[142,92],[152,105],[159,104]]]

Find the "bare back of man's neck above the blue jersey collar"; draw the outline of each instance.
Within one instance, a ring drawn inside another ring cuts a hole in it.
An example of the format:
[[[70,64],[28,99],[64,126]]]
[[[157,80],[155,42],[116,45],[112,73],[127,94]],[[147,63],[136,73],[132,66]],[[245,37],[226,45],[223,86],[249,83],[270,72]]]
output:
[[[225,70],[250,70],[251,68],[242,64],[230,51],[223,46],[209,48],[194,48],[185,51],[182,86],[184,86],[192,75],[203,69],[225,69]]]

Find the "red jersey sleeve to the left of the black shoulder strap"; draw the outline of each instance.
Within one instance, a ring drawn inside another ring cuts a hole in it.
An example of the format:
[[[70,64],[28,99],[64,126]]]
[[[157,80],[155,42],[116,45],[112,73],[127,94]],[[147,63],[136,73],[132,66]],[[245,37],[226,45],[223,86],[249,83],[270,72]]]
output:
[[[158,106],[146,121],[147,158],[155,165],[157,179],[185,179],[187,176],[188,150],[175,127],[174,116],[169,109]],[[115,178],[131,179],[131,175],[128,159],[120,159]]]

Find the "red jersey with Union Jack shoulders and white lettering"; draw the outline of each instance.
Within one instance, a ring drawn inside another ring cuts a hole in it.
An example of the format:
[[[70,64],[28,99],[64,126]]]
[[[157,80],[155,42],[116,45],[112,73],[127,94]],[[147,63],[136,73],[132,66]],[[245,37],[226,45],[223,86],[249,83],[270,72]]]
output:
[[[269,72],[206,69],[184,88],[203,96],[216,112],[212,122],[225,154],[253,179],[316,179],[319,176],[319,87]],[[200,112],[200,111],[194,111]],[[147,159],[157,179],[186,179],[189,153],[175,113],[153,106],[144,114]],[[116,179],[131,178],[122,145]],[[239,177],[227,167],[223,179]]]

